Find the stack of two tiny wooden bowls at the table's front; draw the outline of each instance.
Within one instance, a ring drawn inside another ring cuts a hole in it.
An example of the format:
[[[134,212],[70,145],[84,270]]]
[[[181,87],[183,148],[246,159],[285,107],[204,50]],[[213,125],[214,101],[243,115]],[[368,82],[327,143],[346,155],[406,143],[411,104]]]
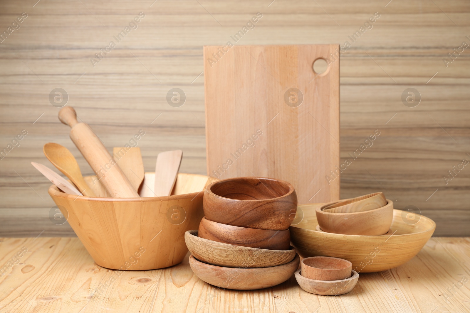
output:
[[[348,260],[310,257],[303,259],[301,264],[295,278],[303,290],[316,295],[345,294],[354,288],[359,279],[359,274],[352,270],[352,263]]]

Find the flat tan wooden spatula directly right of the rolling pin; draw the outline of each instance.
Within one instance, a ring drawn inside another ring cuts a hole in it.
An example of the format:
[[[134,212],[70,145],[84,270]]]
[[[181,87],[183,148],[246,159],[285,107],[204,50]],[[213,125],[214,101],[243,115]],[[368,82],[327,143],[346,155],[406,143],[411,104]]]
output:
[[[139,187],[144,180],[144,163],[142,161],[141,148],[114,147],[113,159],[118,163],[135,191],[139,191]]]

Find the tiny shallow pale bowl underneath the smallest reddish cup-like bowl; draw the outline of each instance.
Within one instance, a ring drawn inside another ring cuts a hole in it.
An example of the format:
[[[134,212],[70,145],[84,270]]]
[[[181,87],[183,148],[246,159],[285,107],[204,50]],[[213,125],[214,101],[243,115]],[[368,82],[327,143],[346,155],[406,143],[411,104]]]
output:
[[[295,279],[297,280],[300,288],[306,292],[322,296],[336,296],[348,293],[354,288],[359,279],[359,274],[356,271],[349,273],[349,278],[337,281],[319,281],[309,279],[304,277],[302,272],[303,271],[300,269],[295,272]]]

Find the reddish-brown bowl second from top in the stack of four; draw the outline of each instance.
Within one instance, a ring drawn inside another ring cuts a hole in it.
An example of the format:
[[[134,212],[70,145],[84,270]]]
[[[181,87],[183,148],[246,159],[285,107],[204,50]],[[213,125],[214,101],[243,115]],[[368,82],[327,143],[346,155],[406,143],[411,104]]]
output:
[[[224,244],[251,248],[288,250],[290,247],[289,229],[266,230],[238,227],[209,221],[205,217],[199,224],[197,236]]]

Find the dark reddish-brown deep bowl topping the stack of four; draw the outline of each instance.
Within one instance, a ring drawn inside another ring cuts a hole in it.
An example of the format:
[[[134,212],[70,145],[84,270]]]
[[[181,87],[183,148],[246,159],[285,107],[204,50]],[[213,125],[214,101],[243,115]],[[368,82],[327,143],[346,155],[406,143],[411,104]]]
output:
[[[208,220],[256,229],[285,230],[297,212],[294,187],[282,180],[237,177],[211,183],[204,191]]]

